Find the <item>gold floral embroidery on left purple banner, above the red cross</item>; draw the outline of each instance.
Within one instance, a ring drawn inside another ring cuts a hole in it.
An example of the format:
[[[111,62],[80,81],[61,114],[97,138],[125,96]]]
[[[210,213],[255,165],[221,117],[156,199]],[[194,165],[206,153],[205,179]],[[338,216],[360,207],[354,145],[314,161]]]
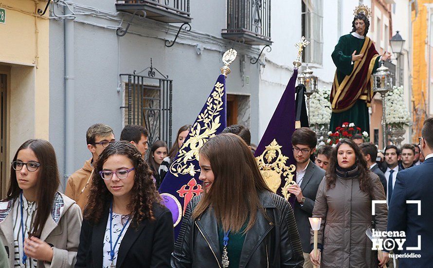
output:
[[[200,169],[193,164],[193,161],[198,161],[198,149],[209,138],[215,136],[216,130],[221,125],[220,111],[223,109],[223,96],[224,84],[217,82],[215,84],[215,91],[206,101],[206,110],[198,115],[189,133],[189,139],[183,143],[179,150],[178,158],[170,166],[170,172],[176,177],[185,174],[194,177],[196,172],[200,172]]]

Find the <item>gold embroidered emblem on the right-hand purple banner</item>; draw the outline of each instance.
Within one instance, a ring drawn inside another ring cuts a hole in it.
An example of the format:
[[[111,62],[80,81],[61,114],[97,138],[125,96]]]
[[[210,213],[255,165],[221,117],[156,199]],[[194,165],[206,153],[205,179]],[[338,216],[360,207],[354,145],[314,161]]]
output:
[[[282,146],[278,145],[278,142],[273,139],[270,145],[265,147],[265,151],[255,158],[260,172],[266,181],[268,187],[276,192],[281,186],[282,179],[285,178],[286,183],[281,188],[284,198],[289,200],[289,186],[295,185],[296,182],[293,181],[294,171],[296,170],[295,165],[286,165],[288,156],[283,155],[281,152]]]

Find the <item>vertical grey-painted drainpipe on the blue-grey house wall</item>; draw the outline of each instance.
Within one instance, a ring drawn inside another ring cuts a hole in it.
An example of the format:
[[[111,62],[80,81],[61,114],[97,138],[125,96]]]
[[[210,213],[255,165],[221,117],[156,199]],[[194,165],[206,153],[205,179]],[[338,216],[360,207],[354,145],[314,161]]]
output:
[[[67,2],[65,15],[73,12],[73,2]],[[74,172],[74,38],[73,19],[65,19],[65,187],[68,177]]]

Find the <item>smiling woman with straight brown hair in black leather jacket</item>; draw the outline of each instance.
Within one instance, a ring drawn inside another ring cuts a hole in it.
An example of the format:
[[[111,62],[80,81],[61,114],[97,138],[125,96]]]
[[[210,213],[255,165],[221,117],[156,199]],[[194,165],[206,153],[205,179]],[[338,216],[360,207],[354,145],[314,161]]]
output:
[[[188,204],[175,243],[175,268],[302,268],[289,203],[271,192],[247,144],[219,134],[199,151],[204,192]]]

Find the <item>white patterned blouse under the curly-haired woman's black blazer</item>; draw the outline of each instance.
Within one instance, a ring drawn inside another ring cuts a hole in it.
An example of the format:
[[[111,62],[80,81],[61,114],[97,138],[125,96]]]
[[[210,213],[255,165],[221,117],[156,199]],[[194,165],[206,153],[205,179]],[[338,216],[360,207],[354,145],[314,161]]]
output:
[[[116,266],[117,264],[117,253],[119,252],[120,244],[122,243],[122,239],[125,236],[126,230],[128,230],[129,224],[131,221],[128,222],[128,224],[125,227],[125,230],[123,230],[119,242],[117,242],[117,245],[114,245],[116,243],[117,238],[119,237],[120,231],[123,228],[123,225],[125,224],[127,217],[123,216],[122,221],[121,214],[117,214],[113,212],[113,220],[112,220],[112,228],[111,228],[111,239],[113,241],[113,249],[114,249],[114,258],[113,258],[113,264]],[[111,256],[110,256],[110,216],[108,215],[107,220],[107,228],[105,230],[104,235],[104,245],[103,245],[103,257],[102,257],[102,267],[103,268],[109,268],[111,265]]]

